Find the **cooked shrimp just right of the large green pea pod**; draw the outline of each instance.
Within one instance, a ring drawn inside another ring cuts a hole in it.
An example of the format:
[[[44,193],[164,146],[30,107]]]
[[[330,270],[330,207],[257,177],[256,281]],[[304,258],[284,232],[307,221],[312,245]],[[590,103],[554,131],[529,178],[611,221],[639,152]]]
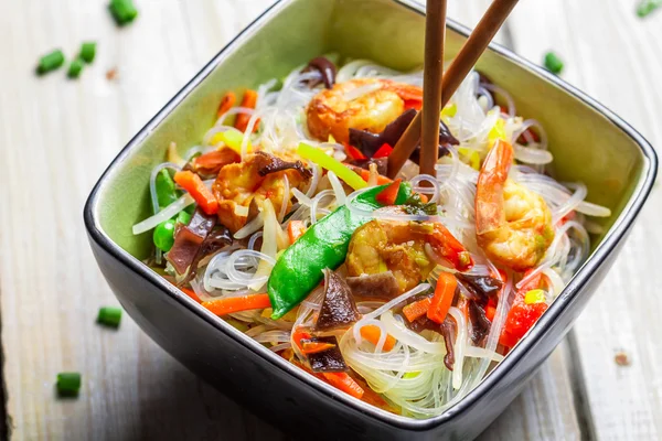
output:
[[[436,266],[425,251],[426,244],[458,270],[473,265],[465,247],[439,223],[371,220],[356,229],[350,240],[348,273],[392,271],[401,292],[405,292],[427,278]]]

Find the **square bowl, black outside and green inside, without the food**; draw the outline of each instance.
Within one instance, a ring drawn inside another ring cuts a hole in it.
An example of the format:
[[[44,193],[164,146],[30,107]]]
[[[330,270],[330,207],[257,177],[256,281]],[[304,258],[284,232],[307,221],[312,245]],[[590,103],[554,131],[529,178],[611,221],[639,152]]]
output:
[[[287,363],[211,314],[140,259],[150,234],[131,226],[150,215],[149,174],[174,141],[182,151],[214,123],[228,89],[282,77],[319,54],[372,58],[397,69],[423,64],[425,19],[406,0],[281,0],[216,55],[113,161],[85,206],[98,265],[122,306],[161,347],[239,404],[292,433],[327,439],[470,439],[517,396],[570,329],[609,269],[656,172],[651,146],[579,90],[511,52],[490,46],[478,68],[510,90],[519,115],[546,128],[555,175],[581,181],[611,208],[591,255],[524,338],[466,398],[414,420],[369,406]],[[448,23],[452,57],[468,30]],[[320,430],[321,429],[321,430]]]

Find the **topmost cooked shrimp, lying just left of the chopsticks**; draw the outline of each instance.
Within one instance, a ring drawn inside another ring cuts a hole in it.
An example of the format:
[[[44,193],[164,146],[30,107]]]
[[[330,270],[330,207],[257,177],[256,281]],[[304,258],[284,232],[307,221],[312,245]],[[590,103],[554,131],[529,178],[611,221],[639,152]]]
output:
[[[408,103],[421,99],[423,89],[417,86],[381,78],[350,79],[312,98],[308,130],[322,141],[332,135],[338,142],[348,142],[350,128],[380,133]]]

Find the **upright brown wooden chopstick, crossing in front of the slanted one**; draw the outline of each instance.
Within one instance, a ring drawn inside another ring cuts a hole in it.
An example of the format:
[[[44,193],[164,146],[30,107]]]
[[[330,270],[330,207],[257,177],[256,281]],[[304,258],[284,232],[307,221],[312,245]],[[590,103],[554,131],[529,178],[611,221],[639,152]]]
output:
[[[447,0],[427,0],[425,22],[425,64],[423,71],[423,114],[420,131],[420,173],[435,176],[439,159],[439,112],[444,77],[444,37]]]

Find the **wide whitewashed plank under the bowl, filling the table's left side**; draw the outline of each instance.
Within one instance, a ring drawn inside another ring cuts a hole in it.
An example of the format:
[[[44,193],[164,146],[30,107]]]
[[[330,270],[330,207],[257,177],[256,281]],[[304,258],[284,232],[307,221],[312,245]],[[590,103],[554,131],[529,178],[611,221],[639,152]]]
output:
[[[94,324],[98,306],[117,301],[81,218],[119,148],[269,3],[145,1],[137,22],[120,30],[104,2],[0,3],[0,54],[10,61],[0,82],[12,85],[0,88],[0,301],[12,439],[284,439],[128,316],[119,331]],[[453,3],[451,12],[473,24],[488,1]],[[79,80],[63,71],[31,74],[38,54],[61,46],[72,56],[87,39],[98,54]],[[485,438],[577,433],[564,366],[555,354]],[[61,370],[84,374],[77,400],[54,399]]]

